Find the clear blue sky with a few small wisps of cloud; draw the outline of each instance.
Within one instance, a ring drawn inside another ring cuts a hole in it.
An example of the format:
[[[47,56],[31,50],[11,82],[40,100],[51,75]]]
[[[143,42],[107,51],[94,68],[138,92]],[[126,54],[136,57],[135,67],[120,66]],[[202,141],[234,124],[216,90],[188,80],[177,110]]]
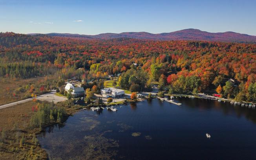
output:
[[[0,0],[0,32],[163,33],[196,28],[256,36],[256,0]]]

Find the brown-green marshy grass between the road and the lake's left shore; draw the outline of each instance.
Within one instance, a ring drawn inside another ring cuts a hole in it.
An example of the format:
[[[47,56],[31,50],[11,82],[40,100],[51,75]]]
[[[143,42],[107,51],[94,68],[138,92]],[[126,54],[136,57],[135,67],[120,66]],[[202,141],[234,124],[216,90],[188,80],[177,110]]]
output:
[[[33,115],[32,107],[37,103],[30,101],[0,110],[0,155],[2,160],[46,159],[47,153],[40,148],[35,137],[36,129],[29,129]],[[20,145],[21,141],[24,141]]]

